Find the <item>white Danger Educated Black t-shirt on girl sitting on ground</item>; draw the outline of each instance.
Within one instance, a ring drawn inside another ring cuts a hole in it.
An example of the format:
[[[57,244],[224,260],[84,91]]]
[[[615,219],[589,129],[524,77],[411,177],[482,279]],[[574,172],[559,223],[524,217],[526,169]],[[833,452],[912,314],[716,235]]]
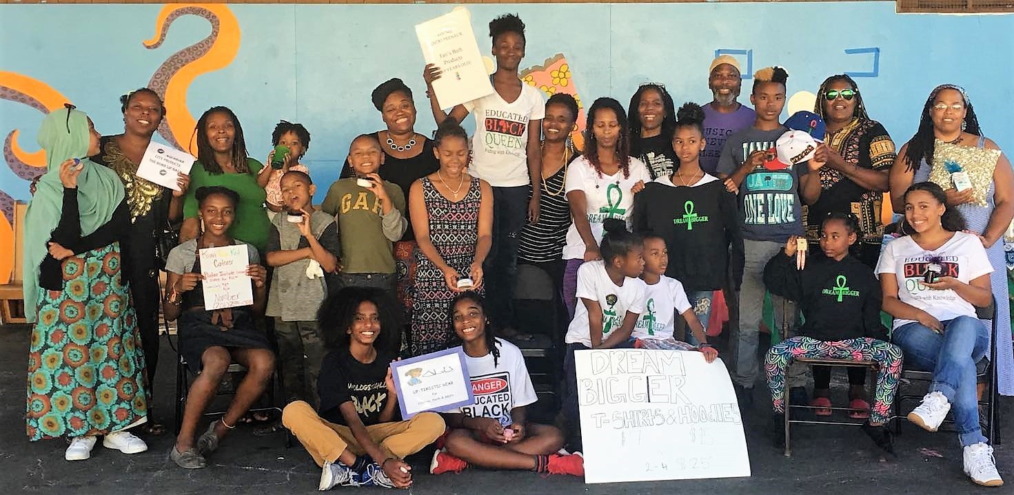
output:
[[[476,403],[461,408],[461,413],[470,417],[493,418],[503,426],[510,426],[510,411],[515,407],[527,406],[538,398],[531,386],[524,356],[516,345],[497,339],[500,357],[493,363],[493,352],[482,357],[465,354],[465,365],[472,378],[472,394]]]

